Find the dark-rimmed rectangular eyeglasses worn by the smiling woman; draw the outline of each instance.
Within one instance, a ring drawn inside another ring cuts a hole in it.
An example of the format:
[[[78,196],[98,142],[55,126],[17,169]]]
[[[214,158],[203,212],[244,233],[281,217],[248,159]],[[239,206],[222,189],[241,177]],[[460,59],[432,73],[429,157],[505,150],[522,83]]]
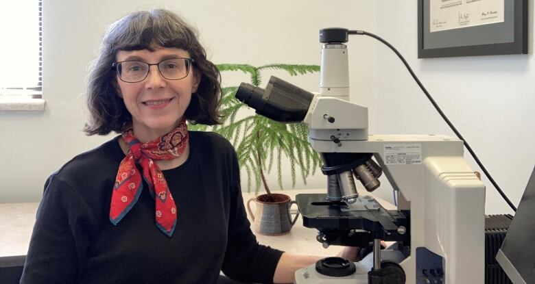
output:
[[[148,64],[139,60],[127,60],[112,63],[112,68],[117,70],[117,75],[119,75],[121,81],[137,83],[147,78],[152,65],[158,66],[158,71],[165,79],[180,80],[188,76],[191,64],[193,64],[193,59],[191,58],[171,58],[155,64]]]

